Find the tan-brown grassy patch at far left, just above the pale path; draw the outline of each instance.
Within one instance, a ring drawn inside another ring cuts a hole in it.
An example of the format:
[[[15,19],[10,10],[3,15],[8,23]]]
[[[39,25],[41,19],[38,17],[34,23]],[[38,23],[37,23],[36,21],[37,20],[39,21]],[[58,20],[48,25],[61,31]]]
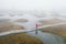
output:
[[[0,32],[6,32],[10,30],[23,30],[24,28],[21,25],[14,25],[11,23],[0,23]]]

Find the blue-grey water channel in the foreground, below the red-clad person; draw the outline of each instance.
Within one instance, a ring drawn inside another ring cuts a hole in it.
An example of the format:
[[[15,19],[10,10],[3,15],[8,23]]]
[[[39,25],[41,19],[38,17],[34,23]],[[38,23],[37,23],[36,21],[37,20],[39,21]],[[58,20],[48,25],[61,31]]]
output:
[[[64,40],[58,35],[41,31],[37,32],[38,32],[37,35],[35,34],[35,32],[29,32],[28,34],[40,38],[45,44],[65,44]]]

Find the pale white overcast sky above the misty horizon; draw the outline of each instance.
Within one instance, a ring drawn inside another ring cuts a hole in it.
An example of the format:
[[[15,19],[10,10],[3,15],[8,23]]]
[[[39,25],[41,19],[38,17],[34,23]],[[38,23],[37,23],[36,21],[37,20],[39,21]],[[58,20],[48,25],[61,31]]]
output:
[[[0,9],[66,11],[66,0],[0,0]]]

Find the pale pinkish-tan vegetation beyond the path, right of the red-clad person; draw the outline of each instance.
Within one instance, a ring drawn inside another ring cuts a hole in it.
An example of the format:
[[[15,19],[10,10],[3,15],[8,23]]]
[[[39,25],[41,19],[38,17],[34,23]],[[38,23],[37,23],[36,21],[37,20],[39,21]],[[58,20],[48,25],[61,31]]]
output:
[[[38,21],[41,23],[41,25],[48,25],[48,24],[56,24],[56,23],[61,23],[61,22],[66,22],[66,21],[63,21],[63,20],[58,20],[58,19],[51,19],[51,20],[42,20],[42,21]]]

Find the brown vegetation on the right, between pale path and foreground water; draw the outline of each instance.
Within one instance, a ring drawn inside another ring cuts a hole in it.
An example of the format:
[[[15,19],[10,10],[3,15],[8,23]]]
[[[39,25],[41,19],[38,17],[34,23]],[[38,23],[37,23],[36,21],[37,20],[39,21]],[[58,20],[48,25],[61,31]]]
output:
[[[66,24],[45,28],[42,30],[42,32],[47,32],[47,33],[53,33],[53,34],[59,35],[64,38],[64,41],[66,43]]]

